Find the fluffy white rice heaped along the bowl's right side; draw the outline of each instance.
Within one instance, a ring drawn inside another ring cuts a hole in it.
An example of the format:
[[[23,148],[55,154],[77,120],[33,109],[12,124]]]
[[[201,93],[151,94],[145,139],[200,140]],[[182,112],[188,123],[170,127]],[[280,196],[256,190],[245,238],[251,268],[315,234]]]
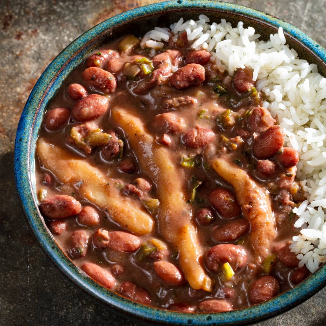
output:
[[[256,87],[267,99],[263,106],[286,130],[285,145],[300,154],[297,177],[308,200],[293,209],[299,216],[295,227],[301,231],[290,248],[300,259],[299,266],[316,271],[326,261],[326,78],[316,65],[299,59],[289,48],[282,27],[265,42],[254,28],[244,28],[243,22],[233,28],[224,19],[209,24],[208,17],[200,15],[197,21],[181,18],[170,29],[155,28],[144,36],[141,46],[154,53],[164,46],[161,41],[173,34],[176,39],[183,32],[193,49],[211,53],[221,72],[233,75],[240,67],[253,69]]]

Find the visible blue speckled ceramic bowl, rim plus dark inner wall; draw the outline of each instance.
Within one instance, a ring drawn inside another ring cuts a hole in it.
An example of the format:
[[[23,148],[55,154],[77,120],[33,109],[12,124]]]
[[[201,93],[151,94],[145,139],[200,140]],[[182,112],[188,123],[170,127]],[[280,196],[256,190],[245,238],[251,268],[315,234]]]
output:
[[[179,20],[207,15],[211,21],[225,18],[236,26],[243,21],[253,26],[263,39],[283,27],[288,44],[301,58],[318,65],[319,72],[326,76],[326,51],[310,37],[292,25],[263,12],[247,7],[216,1],[169,1],[136,8],[112,17],[88,30],[62,51],[43,72],[37,81],[19,121],[15,142],[15,178],[22,207],[28,223],[39,244],[76,285],[101,303],[126,317],[153,325],[239,325],[270,318],[302,303],[326,285],[326,265],[295,288],[274,299],[248,308],[216,314],[183,314],[156,309],[127,300],[97,284],[77,268],[60,250],[47,229],[37,207],[35,185],[35,144],[43,114],[51,98],[69,73],[82,63],[94,49],[122,35],[136,33],[137,36],[154,26],[168,27]]]

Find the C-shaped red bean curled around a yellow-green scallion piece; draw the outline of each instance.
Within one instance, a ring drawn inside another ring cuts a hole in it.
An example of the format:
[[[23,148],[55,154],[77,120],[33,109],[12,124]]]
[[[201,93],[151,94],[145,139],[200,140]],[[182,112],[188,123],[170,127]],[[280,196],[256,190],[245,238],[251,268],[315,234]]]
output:
[[[205,256],[207,267],[213,272],[217,272],[219,264],[228,262],[233,271],[244,267],[247,263],[247,252],[239,245],[218,244],[209,249]]]

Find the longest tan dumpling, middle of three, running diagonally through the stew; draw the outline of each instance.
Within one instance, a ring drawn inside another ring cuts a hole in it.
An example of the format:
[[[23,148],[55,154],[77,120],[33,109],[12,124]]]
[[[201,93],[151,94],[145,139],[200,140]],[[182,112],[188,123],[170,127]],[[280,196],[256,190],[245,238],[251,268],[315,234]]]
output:
[[[112,108],[112,116],[122,127],[142,170],[151,174],[160,201],[158,222],[164,238],[179,250],[180,266],[193,289],[212,291],[213,281],[205,273],[192,212],[186,204],[183,171],[170,159],[169,152],[159,146],[144,123],[121,107]]]

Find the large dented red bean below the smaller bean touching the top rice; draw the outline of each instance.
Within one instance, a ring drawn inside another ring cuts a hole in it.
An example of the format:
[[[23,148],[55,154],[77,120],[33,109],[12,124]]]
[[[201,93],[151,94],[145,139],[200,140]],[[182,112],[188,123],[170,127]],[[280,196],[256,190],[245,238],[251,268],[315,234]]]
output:
[[[178,69],[171,77],[170,84],[177,89],[198,86],[205,80],[205,68],[191,63]]]

